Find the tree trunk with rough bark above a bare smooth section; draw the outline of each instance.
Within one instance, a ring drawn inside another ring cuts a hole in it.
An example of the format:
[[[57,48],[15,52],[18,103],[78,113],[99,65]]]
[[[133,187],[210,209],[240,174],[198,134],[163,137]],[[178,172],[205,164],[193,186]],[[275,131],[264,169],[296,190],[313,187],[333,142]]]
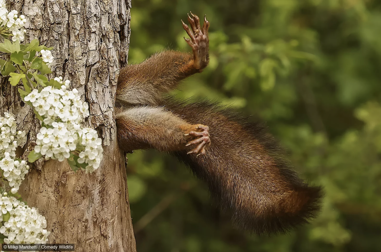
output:
[[[19,193],[46,217],[50,243],[74,243],[75,251],[136,251],[125,160],[113,119],[120,65],[127,61],[130,0],[14,0],[24,14],[26,40],[53,47],[51,77],[71,81],[89,103],[86,126],[103,138],[104,159],[93,174],[74,173],[67,162],[39,160]],[[18,129],[30,132],[24,159],[34,148],[40,124],[17,88],[4,80],[1,112],[17,115]]]

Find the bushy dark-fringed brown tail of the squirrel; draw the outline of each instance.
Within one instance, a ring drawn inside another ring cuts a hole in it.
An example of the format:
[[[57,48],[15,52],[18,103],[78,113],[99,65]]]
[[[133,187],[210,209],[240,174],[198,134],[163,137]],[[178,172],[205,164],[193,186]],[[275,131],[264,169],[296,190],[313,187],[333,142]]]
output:
[[[211,145],[205,156],[174,155],[208,184],[239,228],[256,234],[283,233],[308,222],[319,210],[320,187],[298,177],[266,128],[207,102],[165,106],[189,123],[210,127]]]

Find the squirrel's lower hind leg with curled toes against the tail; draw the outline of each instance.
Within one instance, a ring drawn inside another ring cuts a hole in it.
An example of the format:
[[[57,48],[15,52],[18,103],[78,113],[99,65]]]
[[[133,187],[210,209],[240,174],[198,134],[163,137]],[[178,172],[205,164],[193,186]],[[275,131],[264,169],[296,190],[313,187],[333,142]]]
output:
[[[198,156],[210,145],[207,126],[189,124],[162,107],[122,107],[115,112],[119,145],[125,152],[154,148]]]

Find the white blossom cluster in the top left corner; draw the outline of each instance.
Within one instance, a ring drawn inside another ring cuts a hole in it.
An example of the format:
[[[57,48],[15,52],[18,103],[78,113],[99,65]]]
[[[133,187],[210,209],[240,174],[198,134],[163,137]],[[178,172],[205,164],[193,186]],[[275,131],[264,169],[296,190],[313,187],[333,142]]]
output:
[[[16,10],[8,12],[5,6],[5,0],[0,0],[0,26],[7,27],[7,29],[12,33],[12,40],[24,40],[24,35],[26,30],[24,25],[26,18],[24,15],[18,16]]]

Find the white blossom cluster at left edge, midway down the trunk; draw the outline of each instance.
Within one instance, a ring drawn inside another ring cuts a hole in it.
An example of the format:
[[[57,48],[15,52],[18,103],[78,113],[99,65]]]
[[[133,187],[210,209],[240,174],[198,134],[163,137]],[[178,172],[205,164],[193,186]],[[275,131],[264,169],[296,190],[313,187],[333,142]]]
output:
[[[0,169],[12,187],[12,193],[19,190],[22,180],[29,172],[26,161],[15,158],[16,147],[24,145],[25,142],[25,132],[16,131],[14,117],[9,113],[4,113],[4,117],[0,117]]]

